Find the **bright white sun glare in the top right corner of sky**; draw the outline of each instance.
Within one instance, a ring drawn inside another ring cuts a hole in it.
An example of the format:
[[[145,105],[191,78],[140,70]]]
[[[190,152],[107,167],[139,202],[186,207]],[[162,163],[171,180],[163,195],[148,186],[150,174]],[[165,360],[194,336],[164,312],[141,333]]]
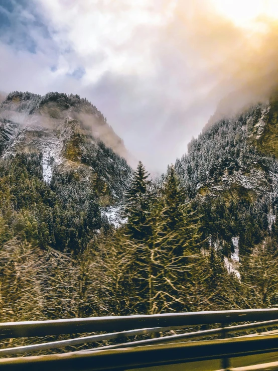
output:
[[[220,14],[236,26],[250,27],[260,16],[278,19],[278,0],[212,0]]]

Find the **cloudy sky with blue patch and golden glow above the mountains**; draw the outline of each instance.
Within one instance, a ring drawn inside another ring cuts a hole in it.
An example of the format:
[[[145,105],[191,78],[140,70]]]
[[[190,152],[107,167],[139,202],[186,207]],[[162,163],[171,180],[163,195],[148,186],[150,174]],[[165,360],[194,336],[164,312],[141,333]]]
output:
[[[87,97],[164,171],[278,82],[276,0],[0,0],[0,91]]]

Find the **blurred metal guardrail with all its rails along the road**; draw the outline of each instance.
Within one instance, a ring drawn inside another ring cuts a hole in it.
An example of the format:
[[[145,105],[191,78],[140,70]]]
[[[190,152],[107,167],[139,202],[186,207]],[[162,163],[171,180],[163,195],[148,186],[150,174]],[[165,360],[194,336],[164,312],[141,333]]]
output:
[[[243,321],[263,322],[229,327],[224,327],[223,325]],[[216,323],[222,324],[222,327],[137,340],[124,344],[107,345],[64,354],[3,358],[0,359],[0,367],[1,370],[40,369],[40,371],[43,371],[44,369],[53,368],[53,371],[56,369],[100,371],[104,369],[128,369],[221,358],[223,359],[223,368],[230,369],[228,362],[230,357],[278,351],[278,334],[265,335],[263,337],[224,339],[231,333],[278,326],[278,309],[252,309],[0,323],[0,338],[2,339],[120,330],[107,334],[0,349],[0,356]],[[134,328],[137,329],[134,330]],[[220,335],[223,339],[186,342],[215,335]],[[177,341],[180,341],[180,343],[177,343]],[[163,342],[168,344],[161,344]],[[169,342],[171,343],[169,344]]]

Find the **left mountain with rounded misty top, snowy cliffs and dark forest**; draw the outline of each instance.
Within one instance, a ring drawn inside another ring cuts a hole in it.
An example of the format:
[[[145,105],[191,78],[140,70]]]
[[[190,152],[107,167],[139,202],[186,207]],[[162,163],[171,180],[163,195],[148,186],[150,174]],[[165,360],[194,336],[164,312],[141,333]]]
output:
[[[78,252],[99,228],[124,222],[120,205],[132,175],[123,157],[128,153],[87,99],[10,93],[0,103],[0,156],[0,178],[9,189],[2,198],[13,210],[4,219],[13,235],[13,223],[27,213],[22,217],[26,223],[33,218],[40,245]]]

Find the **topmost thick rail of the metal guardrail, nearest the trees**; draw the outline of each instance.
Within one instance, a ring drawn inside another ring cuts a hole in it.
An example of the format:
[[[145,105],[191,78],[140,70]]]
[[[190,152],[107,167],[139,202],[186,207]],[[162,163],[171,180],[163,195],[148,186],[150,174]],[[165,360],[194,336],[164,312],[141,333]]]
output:
[[[123,331],[132,330],[134,328],[265,321],[271,319],[278,319],[278,309],[225,310],[193,313],[73,318],[50,321],[6,322],[0,324],[0,339],[96,331]]]

